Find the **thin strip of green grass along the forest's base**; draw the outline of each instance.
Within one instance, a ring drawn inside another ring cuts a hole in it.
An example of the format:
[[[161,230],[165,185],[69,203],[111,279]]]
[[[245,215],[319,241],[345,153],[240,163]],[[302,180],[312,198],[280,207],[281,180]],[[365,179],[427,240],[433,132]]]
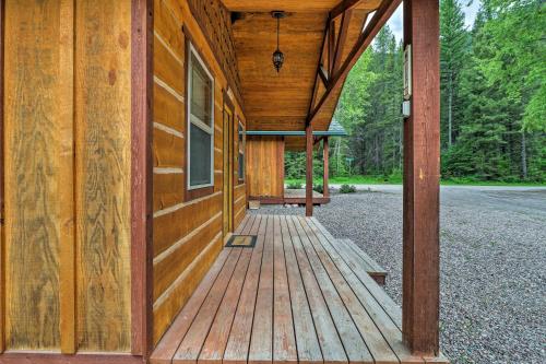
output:
[[[300,183],[305,185],[305,179],[286,179],[285,184]],[[313,185],[322,184],[322,178],[314,178]],[[401,185],[402,176],[351,176],[332,177],[330,184],[333,185]],[[449,178],[440,181],[444,186],[529,186],[545,187],[546,183],[534,181],[502,181],[502,180],[477,180],[473,178]]]

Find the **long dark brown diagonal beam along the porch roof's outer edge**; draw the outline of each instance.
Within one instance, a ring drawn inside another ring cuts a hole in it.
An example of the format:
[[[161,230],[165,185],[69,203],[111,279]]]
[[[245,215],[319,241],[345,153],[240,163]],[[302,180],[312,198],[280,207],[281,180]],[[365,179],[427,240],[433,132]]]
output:
[[[345,59],[343,64],[340,67],[340,70],[336,73],[331,74],[327,91],[320,98],[319,103],[313,107],[312,111],[308,114],[307,124],[312,124],[327,101],[332,97],[332,91],[345,79],[348,71],[351,71],[360,55],[366,50],[366,48],[368,48],[371,40],[373,40],[376,35],[379,33],[384,23],[387,23],[387,21],[391,17],[392,13],[394,13],[401,2],[402,0],[385,0],[381,3],[364,33],[358,37],[358,40],[348,54],[347,59]]]

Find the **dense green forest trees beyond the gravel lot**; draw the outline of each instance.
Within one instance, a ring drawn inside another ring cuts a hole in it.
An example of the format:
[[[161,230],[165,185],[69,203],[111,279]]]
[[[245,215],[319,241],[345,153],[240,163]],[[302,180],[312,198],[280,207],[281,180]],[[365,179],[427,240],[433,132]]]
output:
[[[441,0],[440,15],[442,178],[544,183],[546,3],[483,0],[472,30],[462,0]],[[402,62],[384,27],[347,77],[334,117],[349,137],[331,143],[333,179],[401,177]]]

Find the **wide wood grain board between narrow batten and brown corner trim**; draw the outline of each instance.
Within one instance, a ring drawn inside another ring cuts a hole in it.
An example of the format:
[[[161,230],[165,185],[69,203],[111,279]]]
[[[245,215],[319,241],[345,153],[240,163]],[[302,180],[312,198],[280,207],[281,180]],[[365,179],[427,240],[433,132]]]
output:
[[[80,350],[129,351],[131,1],[76,1]]]

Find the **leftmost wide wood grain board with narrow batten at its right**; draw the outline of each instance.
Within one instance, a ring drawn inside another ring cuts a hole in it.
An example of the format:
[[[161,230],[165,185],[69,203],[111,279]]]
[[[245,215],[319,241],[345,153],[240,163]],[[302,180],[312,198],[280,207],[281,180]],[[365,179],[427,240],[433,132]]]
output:
[[[5,2],[8,349],[61,345],[59,265],[73,245],[70,11],[68,1]],[[70,324],[62,328],[73,336]]]

